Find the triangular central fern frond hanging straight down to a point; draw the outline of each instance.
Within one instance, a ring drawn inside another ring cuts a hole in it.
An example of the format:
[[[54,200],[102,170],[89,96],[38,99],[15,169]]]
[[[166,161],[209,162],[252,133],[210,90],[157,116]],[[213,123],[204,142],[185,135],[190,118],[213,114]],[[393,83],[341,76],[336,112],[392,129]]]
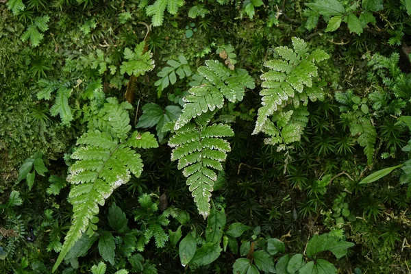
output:
[[[204,219],[210,213],[210,197],[216,172],[222,171],[221,162],[225,161],[227,152],[231,151],[229,142],[221,137],[234,136],[229,125],[188,125],[178,129],[169,140],[173,147],[171,160],[178,160],[178,169],[183,169],[187,185],[199,213]]]

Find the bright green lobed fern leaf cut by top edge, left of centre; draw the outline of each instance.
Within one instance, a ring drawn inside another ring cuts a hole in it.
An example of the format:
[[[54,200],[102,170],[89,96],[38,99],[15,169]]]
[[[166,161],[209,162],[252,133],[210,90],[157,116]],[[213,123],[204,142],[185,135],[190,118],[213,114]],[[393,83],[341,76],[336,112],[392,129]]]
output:
[[[170,14],[177,14],[178,8],[184,5],[183,0],[156,0],[153,5],[146,8],[147,16],[151,19],[154,27],[159,27],[164,21],[164,11],[167,9]]]

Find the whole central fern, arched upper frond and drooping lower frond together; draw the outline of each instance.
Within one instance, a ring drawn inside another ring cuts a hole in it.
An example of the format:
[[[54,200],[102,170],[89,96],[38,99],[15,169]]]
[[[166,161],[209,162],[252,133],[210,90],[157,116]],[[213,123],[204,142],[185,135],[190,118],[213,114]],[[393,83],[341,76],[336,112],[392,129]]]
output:
[[[247,71],[231,71],[216,60],[206,61],[206,66],[200,66],[198,72],[206,81],[190,88],[189,95],[184,97],[186,103],[174,124],[175,135],[169,140],[169,146],[173,147],[171,160],[178,160],[178,169],[184,169],[199,213],[206,219],[217,179],[214,170],[223,170],[221,162],[231,150],[229,142],[221,138],[234,136],[229,125],[208,124],[214,111],[223,108],[224,99],[241,101],[245,88],[255,86]]]

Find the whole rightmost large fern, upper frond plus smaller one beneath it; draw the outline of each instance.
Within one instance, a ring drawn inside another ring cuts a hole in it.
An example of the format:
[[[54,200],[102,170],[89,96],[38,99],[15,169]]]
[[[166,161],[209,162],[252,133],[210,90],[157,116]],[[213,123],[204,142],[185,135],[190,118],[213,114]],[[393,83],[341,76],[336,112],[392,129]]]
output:
[[[271,136],[264,140],[266,144],[287,145],[300,140],[309,114],[306,108],[299,109],[301,102],[305,106],[308,99],[324,99],[323,91],[313,77],[318,76],[315,62],[323,61],[329,55],[322,49],[310,53],[307,43],[295,37],[292,46],[293,49],[277,47],[275,52],[281,58],[266,62],[264,66],[271,71],[261,75],[262,107],[258,110],[253,134],[264,132]]]

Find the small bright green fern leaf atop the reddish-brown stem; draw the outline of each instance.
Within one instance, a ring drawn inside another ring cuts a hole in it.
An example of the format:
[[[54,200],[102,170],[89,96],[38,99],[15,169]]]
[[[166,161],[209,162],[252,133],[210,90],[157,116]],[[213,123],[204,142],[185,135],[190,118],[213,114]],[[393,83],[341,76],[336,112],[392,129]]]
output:
[[[143,53],[144,47],[145,41],[142,41],[136,46],[134,52],[127,47],[125,48],[124,58],[128,61],[121,64],[121,74],[127,73],[128,75],[138,77],[154,69],[154,60],[151,60],[152,53],[150,53],[150,51]]]

